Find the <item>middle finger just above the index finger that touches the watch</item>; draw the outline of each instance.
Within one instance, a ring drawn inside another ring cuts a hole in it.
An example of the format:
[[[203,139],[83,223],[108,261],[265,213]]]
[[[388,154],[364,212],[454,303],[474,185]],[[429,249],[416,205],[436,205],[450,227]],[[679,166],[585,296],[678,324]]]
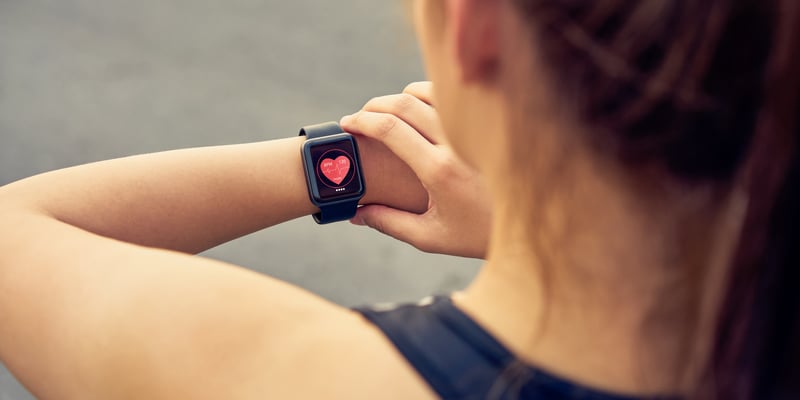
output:
[[[363,110],[396,115],[431,143],[441,143],[442,128],[436,110],[410,94],[375,97]]]

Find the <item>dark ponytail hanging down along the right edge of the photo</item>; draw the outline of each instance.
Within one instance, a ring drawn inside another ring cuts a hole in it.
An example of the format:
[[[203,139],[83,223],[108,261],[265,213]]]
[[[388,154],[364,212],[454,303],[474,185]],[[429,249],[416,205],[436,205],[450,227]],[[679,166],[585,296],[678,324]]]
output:
[[[748,216],[701,398],[800,398],[800,3],[776,1]]]

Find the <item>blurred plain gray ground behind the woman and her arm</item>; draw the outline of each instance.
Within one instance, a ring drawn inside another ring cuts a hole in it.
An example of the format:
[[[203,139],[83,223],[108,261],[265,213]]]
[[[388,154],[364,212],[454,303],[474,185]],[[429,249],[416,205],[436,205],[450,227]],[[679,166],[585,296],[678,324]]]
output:
[[[180,147],[295,135],[423,79],[401,0],[0,0],[0,185]],[[479,262],[346,223],[207,253],[343,305],[463,287]],[[31,398],[0,365],[0,400]]]

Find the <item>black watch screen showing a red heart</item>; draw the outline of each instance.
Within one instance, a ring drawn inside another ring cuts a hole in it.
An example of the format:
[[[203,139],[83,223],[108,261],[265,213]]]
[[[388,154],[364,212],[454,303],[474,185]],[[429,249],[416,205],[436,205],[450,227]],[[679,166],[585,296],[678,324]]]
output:
[[[321,200],[332,200],[361,192],[352,141],[345,139],[320,144],[310,150]]]

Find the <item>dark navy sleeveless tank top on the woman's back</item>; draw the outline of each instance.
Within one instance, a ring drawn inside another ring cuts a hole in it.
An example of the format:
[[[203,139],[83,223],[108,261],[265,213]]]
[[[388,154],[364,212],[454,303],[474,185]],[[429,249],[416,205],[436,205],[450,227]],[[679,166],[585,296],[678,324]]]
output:
[[[448,297],[356,311],[383,331],[443,399],[635,399],[581,387],[518,360]]]

